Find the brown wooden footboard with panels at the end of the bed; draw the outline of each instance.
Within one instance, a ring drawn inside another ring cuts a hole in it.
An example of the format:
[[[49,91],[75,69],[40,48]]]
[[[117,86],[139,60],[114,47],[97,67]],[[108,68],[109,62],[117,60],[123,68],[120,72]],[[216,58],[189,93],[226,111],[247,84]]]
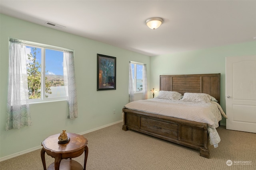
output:
[[[197,149],[200,150],[200,156],[209,158],[207,123],[130,109],[124,109],[123,111],[124,125],[122,129],[124,131],[131,129],[192,149]]]

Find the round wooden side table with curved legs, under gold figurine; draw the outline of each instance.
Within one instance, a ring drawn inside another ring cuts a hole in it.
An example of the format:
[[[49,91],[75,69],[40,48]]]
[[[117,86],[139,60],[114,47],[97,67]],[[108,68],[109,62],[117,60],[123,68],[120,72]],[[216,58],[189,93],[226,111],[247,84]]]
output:
[[[49,136],[42,142],[41,159],[46,170],[45,152],[52,158],[55,158],[54,163],[50,164],[47,170],[85,170],[88,157],[88,141],[81,135],[75,133],[67,133],[70,137],[68,143],[59,144],[59,134]],[[76,158],[84,152],[84,168],[82,165],[71,158]],[[69,158],[69,159],[68,159]],[[68,160],[62,160],[68,159]]]

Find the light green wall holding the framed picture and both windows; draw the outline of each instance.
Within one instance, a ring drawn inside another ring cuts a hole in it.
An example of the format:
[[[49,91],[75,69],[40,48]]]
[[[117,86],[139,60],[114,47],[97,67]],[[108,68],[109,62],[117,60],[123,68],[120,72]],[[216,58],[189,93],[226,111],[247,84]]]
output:
[[[122,120],[128,103],[128,63],[147,64],[150,57],[118,47],[0,15],[0,158],[41,145],[48,136],[66,130],[83,133]],[[78,118],[67,119],[65,101],[30,104],[33,125],[5,131],[9,37],[74,50],[78,94]],[[97,91],[97,53],[116,57],[116,90]],[[150,86],[148,86],[150,88]],[[113,114],[113,110],[116,114]],[[90,143],[90,139],[88,139]]]

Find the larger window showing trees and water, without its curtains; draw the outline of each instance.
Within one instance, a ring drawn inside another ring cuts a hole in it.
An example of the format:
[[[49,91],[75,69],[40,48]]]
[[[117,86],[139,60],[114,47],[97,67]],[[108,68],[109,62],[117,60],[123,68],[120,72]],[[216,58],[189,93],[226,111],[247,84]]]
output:
[[[30,102],[66,99],[63,50],[42,44],[25,45]]]

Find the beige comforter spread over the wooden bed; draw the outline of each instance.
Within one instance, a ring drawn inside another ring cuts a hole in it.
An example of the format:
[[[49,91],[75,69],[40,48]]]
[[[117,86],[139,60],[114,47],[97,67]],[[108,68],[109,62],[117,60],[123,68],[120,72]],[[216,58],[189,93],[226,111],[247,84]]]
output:
[[[218,122],[222,116],[227,118],[217,102],[197,103],[153,98],[130,102],[124,108],[207,123],[209,142],[214,147],[218,147],[220,142],[220,136],[215,128],[219,126]]]

